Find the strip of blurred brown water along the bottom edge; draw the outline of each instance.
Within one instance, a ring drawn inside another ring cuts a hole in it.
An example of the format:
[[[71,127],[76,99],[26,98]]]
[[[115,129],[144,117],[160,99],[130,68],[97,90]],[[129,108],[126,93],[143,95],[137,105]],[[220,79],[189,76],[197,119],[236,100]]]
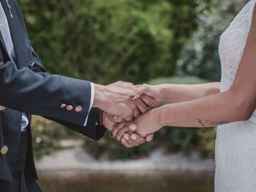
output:
[[[214,192],[213,172],[46,171],[43,192]]]

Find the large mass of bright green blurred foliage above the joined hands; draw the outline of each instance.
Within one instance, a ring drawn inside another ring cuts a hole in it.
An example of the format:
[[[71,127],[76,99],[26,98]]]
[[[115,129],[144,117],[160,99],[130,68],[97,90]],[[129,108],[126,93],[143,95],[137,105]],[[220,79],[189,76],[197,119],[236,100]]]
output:
[[[180,50],[196,29],[195,2],[20,0],[19,4],[31,44],[48,72],[109,84],[174,74]]]

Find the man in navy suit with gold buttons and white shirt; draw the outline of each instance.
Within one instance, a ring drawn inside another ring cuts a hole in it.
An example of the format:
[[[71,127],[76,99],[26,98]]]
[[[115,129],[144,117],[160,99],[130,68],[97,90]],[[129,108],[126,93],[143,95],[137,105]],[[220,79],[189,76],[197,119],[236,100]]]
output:
[[[99,140],[106,128],[116,124],[113,115],[135,130],[129,121],[146,112],[147,105],[156,106],[147,96],[130,100],[134,90],[125,82],[102,86],[46,73],[30,46],[16,0],[0,0],[0,191],[41,191],[36,183],[30,114]],[[135,140],[127,140],[127,147],[145,142],[134,136]]]

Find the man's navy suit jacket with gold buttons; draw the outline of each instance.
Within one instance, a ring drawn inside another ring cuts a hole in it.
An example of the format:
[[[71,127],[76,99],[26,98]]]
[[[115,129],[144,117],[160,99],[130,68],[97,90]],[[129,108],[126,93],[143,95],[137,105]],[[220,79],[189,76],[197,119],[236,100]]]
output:
[[[95,126],[97,108],[92,108],[87,126],[83,126],[90,106],[90,82],[46,73],[30,45],[18,3],[16,0],[9,0],[13,14],[11,18],[5,0],[0,2],[8,20],[17,60],[16,63],[11,62],[0,34],[0,106],[6,107],[0,111],[0,148],[9,148],[6,154],[0,154],[0,183],[11,184],[22,112],[44,116],[94,140],[102,138],[106,129]],[[34,66],[30,69],[29,65],[33,62]],[[82,111],[60,108],[62,103],[71,105],[74,109],[81,106]],[[31,122],[31,115],[28,116]],[[26,158],[26,182],[32,186],[33,180],[38,177],[34,167],[30,125],[28,132],[30,147]]]

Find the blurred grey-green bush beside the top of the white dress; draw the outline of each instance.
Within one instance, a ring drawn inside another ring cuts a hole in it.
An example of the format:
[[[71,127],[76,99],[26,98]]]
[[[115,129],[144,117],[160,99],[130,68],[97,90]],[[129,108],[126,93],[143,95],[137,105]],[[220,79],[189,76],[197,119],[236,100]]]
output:
[[[246,0],[202,2],[197,7],[198,31],[188,41],[178,62],[180,76],[195,75],[220,81],[221,66],[218,54],[220,35],[246,3]]]

